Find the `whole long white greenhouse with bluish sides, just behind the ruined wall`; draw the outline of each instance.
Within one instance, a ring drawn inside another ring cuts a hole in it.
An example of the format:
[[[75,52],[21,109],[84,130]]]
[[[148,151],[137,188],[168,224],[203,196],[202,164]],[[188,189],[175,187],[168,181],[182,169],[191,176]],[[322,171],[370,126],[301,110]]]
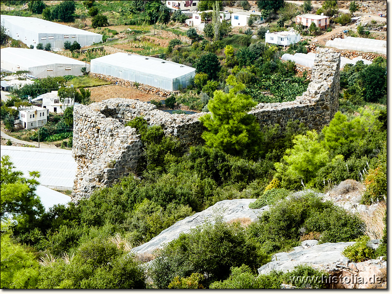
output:
[[[118,52],[92,59],[91,72],[176,91],[191,83],[196,69],[160,58]]]

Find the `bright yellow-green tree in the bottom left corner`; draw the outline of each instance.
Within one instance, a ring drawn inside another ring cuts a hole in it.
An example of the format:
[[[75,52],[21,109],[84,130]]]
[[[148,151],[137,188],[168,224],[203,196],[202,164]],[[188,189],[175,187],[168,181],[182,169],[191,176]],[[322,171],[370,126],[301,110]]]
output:
[[[2,184],[1,184],[2,185]],[[2,190],[2,189],[1,189]],[[3,222],[1,231],[3,232]],[[1,233],[1,289],[35,288],[39,276],[39,264],[34,255],[11,239],[9,233]]]

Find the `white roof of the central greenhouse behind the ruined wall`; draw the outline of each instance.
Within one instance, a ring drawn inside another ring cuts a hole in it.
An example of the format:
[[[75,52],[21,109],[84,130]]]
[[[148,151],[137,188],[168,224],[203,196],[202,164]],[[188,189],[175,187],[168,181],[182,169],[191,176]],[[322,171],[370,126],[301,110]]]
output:
[[[165,76],[169,78],[176,78],[196,71],[196,69],[192,67],[172,61],[123,52],[118,52],[91,60],[91,64],[96,62],[106,63],[112,66],[123,67],[142,73]]]

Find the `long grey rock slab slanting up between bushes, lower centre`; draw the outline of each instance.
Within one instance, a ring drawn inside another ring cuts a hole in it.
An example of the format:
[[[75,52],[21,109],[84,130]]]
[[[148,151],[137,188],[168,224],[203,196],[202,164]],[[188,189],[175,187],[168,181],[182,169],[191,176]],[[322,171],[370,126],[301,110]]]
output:
[[[265,206],[260,209],[250,209],[249,203],[256,201],[256,199],[233,199],[223,200],[210,206],[202,212],[198,212],[193,216],[187,217],[181,221],[177,221],[171,227],[163,230],[158,236],[152,238],[147,243],[133,248],[131,251],[143,255],[151,254],[154,250],[162,248],[164,244],[177,239],[181,233],[187,233],[191,229],[204,223],[214,223],[215,218],[221,216],[224,221],[256,221],[258,215],[268,209]]]

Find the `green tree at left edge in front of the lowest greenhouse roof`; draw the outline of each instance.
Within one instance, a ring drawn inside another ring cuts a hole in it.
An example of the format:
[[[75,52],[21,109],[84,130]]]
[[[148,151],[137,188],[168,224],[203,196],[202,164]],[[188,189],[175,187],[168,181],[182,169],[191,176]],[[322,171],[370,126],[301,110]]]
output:
[[[11,216],[19,224],[33,221],[44,212],[44,207],[37,195],[35,179],[38,172],[30,172],[30,179],[24,178],[22,172],[13,172],[15,166],[8,155],[1,156],[1,221]]]

